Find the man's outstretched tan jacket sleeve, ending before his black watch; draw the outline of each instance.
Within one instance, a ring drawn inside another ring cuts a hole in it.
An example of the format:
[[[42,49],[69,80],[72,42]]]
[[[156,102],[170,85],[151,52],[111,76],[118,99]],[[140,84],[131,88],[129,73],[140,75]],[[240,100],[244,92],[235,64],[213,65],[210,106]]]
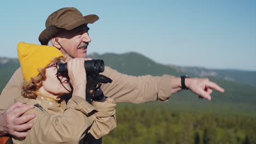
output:
[[[103,75],[113,80],[102,85],[101,89],[115,103],[146,103],[165,101],[171,97],[172,77],[164,76],[130,76],[105,67]]]

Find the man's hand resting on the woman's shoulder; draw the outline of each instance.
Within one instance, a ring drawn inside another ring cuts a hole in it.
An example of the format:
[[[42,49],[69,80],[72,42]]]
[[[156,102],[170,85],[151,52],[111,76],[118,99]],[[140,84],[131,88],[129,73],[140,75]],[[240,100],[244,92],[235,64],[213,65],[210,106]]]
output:
[[[36,115],[21,115],[33,108],[33,105],[26,105],[20,102],[10,106],[3,115],[0,115],[0,136],[10,134],[19,138],[26,137],[28,132],[24,131],[33,127],[33,123],[26,122],[36,117]]]

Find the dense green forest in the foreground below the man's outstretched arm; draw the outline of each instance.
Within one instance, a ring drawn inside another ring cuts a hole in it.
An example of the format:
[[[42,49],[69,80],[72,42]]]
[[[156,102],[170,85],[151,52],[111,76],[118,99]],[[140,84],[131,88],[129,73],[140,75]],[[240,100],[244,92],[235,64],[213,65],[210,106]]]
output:
[[[117,119],[103,143],[256,143],[255,117],[124,106]]]

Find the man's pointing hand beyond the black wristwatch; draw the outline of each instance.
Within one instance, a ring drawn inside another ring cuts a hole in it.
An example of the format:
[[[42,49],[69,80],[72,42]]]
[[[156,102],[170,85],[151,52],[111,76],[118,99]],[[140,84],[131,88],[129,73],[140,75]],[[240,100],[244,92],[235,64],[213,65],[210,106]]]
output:
[[[210,81],[209,79],[187,78],[185,79],[185,86],[187,86],[190,91],[208,100],[211,100],[211,93],[213,88],[216,89],[216,91],[222,93],[225,92],[223,88]]]

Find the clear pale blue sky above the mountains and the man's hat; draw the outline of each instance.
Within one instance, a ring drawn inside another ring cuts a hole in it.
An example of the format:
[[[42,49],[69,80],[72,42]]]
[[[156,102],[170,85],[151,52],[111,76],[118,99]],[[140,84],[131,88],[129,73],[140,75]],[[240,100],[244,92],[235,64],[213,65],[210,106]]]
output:
[[[4,1],[0,56],[39,44],[45,20],[75,7],[97,14],[88,53],[139,52],[162,64],[256,70],[256,1]]]

